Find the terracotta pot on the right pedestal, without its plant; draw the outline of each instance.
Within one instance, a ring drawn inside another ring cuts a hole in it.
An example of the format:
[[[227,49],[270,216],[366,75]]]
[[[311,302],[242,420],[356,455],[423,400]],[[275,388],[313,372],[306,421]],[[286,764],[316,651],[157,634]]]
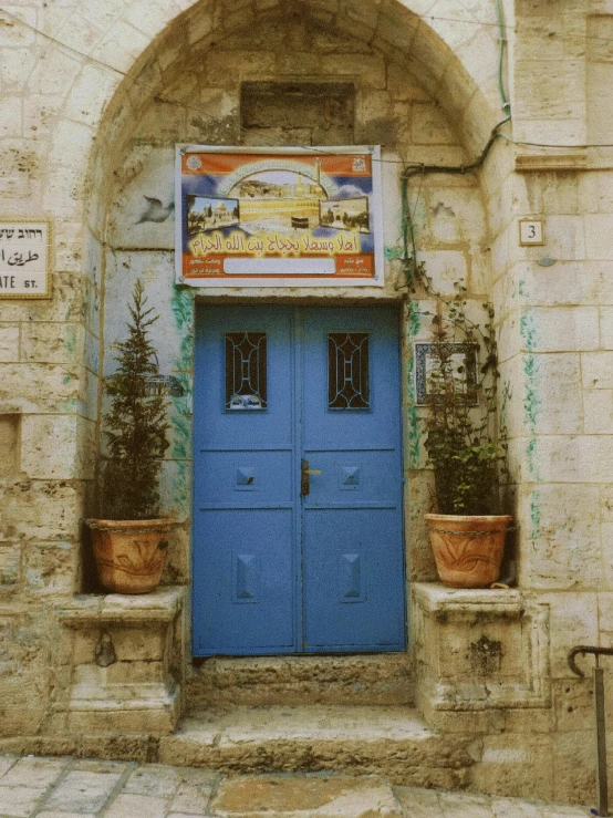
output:
[[[508,515],[427,514],[438,576],[451,588],[488,588],[500,576]]]

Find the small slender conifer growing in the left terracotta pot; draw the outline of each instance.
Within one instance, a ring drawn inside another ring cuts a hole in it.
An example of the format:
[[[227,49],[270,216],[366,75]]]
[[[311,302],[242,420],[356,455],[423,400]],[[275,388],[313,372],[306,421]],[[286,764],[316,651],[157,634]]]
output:
[[[112,402],[105,417],[108,459],[103,507],[110,519],[152,519],[159,514],[159,472],[170,426],[167,401],[153,380],[158,365],[148,336],[159,315],[153,315],[146,302],[143,282],[137,279],[129,304],[128,335],[116,345],[118,367],[106,382]]]

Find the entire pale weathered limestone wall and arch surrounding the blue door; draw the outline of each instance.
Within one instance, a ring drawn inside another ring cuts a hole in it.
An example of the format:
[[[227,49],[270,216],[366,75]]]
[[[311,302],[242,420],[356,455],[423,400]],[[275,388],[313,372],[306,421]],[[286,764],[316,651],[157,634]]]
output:
[[[565,655],[578,643],[607,644],[613,632],[613,157],[585,147],[613,143],[613,6],[502,7],[512,104],[502,133],[563,147],[498,138],[479,174],[414,177],[409,207],[435,289],[448,293],[463,278],[471,314],[488,299],[496,307],[518,580],[530,605],[549,609],[549,670],[539,666],[551,704],[516,706],[500,721],[497,702],[492,718],[440,725],[480,734],[479,786],[574,799],[591,786],[590,686],[571,676]],[[162,371],[185,389],[173,398],[164,470],[165,508],[181,522],[165,582],[189,582],[194,292],[174,286],[170,209],[165,221],[143,220],[146,196],[166,208],[173,201],[174,144],[382,144],[385,287],[351,296],[403,303],[408,573],[432,580],[412,361],[413,342],[428,336],[419,314],[428,304],[407,298],[398,261],[399,174],[411,163],[472,162],[506,111],[496,4],[486,0],[17,0],[0,12],[0,45],[2,214],[53,226],[52,299],[0,302],[0,731],[32,736],[66,729],[61,714],[75,698],[79,663],[70,656],[81,648],[61,630],[59,611],[94,588],[81,543],[82,519],[95,511],[100,383],[112,372],[137,276],[162,314],[154,328]],[[346,83],[353,113],[337,100],[301,127],[278,99],[252,96],[241,111],[241,83]],[[543,247],[520,247],[526,217],[544,219]],[[555,263],[540,266],[546,258]],[[287,293],[207,292],[222,294]],[[524,645],[523,613],[500,624],[491,604],[493,630],[486,617],[482,632],[467,636],[458,625],[451,643],[484,636],[501,650]],[[177,627],[172,650],[184,644],[180,634]],[[84,640],[95,639],[94,628]],[[454,660],[433,659],[423,676],[425,711],[436,710],[430,671],[444,661]],[[454,679],[453,667],[440,677]],[[467,705],[470,713],[470,696]]]

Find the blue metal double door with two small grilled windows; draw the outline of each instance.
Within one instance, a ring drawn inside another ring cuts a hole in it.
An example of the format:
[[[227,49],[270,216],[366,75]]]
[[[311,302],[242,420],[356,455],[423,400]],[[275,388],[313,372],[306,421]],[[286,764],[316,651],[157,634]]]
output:
[[[398,314],[198,308],[194,653],[405,645]]]

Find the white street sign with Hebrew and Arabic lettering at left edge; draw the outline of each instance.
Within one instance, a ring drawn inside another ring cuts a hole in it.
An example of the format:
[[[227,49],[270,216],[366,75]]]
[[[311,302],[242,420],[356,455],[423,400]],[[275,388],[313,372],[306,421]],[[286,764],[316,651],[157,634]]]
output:
[[[48,221],[0,220],[0,299],[51,298]]]

